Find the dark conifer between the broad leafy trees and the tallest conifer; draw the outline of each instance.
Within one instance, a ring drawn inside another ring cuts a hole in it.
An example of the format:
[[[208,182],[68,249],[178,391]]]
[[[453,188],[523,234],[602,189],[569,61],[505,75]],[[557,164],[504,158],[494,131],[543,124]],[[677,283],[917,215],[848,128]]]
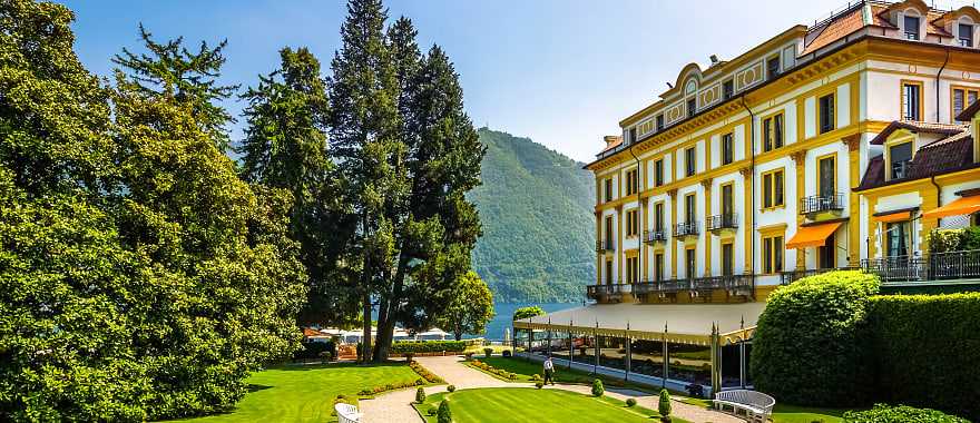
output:
[[[281,68],[261,76],[242,98],[245,139],[242,177],[292,193],[291,234],[310,277],[301,321],[347,325],[357,316],[356,286],[337,259],[353,223],[336,196],[334,166],[326,151],[330,102],[320,61],[306,48],[280,51]],[[340,212],[340,213],[339,213]],[[357,321],[360,322],[360,321]]]

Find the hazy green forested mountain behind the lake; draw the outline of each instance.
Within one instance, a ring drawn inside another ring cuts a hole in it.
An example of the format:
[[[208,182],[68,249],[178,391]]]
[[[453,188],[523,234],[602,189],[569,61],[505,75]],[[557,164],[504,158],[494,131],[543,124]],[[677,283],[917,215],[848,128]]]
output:
[[[483,223],[473,267],[498,303],[579,302],[596,277],[595,183],[582,164],[480,128],[483,185],[469,198]]]

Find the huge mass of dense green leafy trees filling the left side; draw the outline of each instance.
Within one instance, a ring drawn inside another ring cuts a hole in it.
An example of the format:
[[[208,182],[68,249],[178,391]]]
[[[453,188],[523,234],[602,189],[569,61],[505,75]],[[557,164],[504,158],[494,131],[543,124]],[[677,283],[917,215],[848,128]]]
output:
[[[298,344],[288,193],[193,106],[100,85],[62,6],[0,2],[0,420],[227,410]]]

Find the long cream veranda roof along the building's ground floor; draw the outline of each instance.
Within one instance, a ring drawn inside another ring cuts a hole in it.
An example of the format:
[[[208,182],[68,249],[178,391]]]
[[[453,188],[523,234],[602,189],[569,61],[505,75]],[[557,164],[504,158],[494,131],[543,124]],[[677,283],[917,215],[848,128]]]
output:
[[[513,327],[709,345],[715,325],[724,345],[751,338],[764,308],[765,303],[594,304],[516,321]]]

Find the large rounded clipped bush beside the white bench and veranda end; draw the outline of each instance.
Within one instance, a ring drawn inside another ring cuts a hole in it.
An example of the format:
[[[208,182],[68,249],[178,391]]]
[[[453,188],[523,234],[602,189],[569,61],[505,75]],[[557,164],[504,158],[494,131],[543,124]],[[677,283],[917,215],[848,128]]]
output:
[[[755,387],[798,405],[868,402],[873,375],[866,316],[876,276],[860,270],[802,278],[768,297],[752,348]]]

